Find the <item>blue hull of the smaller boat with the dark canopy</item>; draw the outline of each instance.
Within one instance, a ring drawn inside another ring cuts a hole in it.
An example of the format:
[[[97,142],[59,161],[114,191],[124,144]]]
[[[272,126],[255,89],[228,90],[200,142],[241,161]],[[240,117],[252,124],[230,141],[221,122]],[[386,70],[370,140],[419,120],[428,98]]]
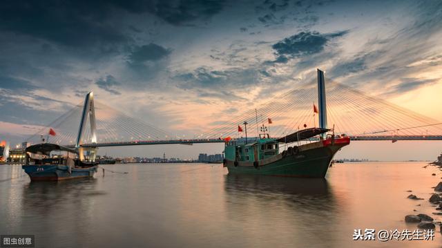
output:
[[[74,167],[70,170],[69,166],[57,164],[23,165],[21,167],[29,175],[31,181],[59,181],[93,177],[98,166]]]

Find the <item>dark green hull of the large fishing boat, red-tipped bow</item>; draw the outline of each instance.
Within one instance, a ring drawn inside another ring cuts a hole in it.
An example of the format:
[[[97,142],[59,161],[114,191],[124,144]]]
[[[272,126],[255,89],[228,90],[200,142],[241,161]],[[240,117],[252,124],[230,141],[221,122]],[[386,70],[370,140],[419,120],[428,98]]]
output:
[[[318,146],[313,149],[299,151],[296,154],[279,154],[267,164],[253,164],[227,161],[229,173],[249,173],[258,175],[275,175],[297,178],[325,178],[330,163],[339,149],[348,143]]]

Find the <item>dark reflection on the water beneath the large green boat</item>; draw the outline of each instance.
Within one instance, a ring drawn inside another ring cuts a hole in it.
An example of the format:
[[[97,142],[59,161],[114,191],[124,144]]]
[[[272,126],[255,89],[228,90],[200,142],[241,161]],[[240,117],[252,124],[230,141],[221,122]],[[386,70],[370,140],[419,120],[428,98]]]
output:
[[[243,226],[245,240],[258,238],[259,244],[276,247],[338,247],[336,232],[345,216],[324,178],[230,174],[224,187],[227,218]]]

